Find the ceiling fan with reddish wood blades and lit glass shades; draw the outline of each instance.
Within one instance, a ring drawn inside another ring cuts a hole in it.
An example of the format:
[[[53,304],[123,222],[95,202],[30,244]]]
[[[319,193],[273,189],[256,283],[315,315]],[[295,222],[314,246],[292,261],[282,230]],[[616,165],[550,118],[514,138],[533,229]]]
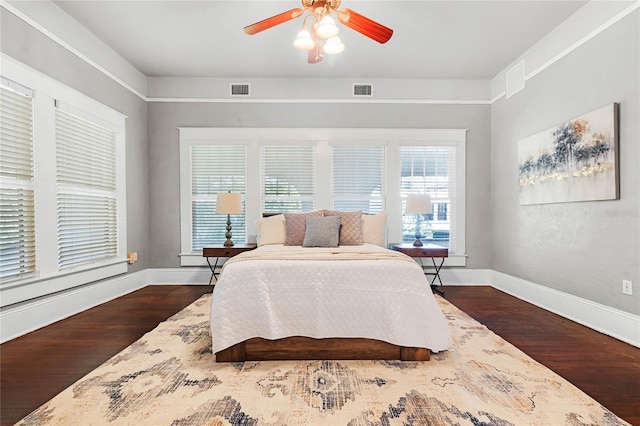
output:
[[[244,27],[244,32],[249,35],[257,34],[309,12],[302,22],[302,29],[294,40],[293,45],[296,49],[309,51],[308,62],[310,64],[322,61],[325,53],[336,54],[344,50],[344,44],[338,37],[340,29],[331,18],[332,13],[346,27],[378,43],[389,41],[393,35],[391,28],[385,27],[351,9],[338,10],[340,3],[341,0],[302,0],[302,8],[291,9],[255,24],[247,25]],[[307,30],[308,19],[313,21],[309,26],[310,30]]]

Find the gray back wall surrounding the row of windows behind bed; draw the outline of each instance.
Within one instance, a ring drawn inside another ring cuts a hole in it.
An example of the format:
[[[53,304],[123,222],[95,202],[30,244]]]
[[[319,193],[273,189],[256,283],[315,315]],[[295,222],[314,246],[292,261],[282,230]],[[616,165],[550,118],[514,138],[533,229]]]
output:
[[[467,266],[490,261],[488,105],[150,103],[149,206],[152,267],[180,265],[177,127],[466,128]]]

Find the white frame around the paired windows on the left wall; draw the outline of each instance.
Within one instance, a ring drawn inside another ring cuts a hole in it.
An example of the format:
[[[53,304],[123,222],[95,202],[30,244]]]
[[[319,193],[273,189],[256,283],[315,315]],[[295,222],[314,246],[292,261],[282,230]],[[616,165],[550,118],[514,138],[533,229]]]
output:
[[[2,76],[34,92],[34,170],[36,273],[0,282],[1,306],[19,303],[126,273],[127,222],[126,116],[57,80],[2,54]],[[116,132],[117,247],[114,257],[61,270],[58,267],[55,108],[64,104],[75,115]]]

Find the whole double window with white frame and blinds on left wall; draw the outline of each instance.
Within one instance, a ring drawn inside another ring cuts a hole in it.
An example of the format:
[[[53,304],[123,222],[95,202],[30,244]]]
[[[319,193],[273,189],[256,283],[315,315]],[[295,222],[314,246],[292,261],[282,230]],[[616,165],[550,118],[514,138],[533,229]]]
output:
[[[1,305],[127,272],[125,116],[2,60]]]

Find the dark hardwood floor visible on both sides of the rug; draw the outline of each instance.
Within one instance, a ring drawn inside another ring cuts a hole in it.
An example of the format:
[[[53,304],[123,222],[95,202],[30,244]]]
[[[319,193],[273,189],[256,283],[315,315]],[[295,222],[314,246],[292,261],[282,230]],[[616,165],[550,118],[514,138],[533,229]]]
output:
[[[12,425],[207,291],[149,286],[0,345],[0,424]],[[491,287],[445,297],[633,425],[640,349]]]

